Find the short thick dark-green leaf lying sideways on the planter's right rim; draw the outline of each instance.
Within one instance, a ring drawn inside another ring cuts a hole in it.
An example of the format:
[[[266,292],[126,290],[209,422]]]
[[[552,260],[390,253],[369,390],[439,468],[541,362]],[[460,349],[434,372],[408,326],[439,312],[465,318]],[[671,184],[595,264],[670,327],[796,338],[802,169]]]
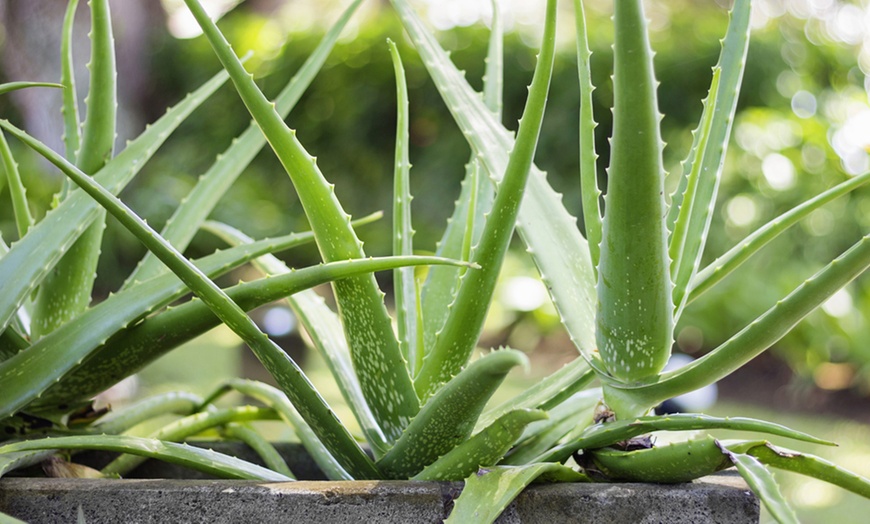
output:
[[[598,472],[610,480],[626,482],[689,482],[731,466],[710,436],[635,451],[601,448],[586,453]]]

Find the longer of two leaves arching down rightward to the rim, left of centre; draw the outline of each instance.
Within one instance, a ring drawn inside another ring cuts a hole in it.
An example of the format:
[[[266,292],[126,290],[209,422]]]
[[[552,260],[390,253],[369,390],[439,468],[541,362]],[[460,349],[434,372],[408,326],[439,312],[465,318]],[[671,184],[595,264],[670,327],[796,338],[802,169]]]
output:
[[[332,480],[353,480],[336,462],[328,449],[320,442],[307,422],[299,415],[287,396],[279,389],[253,380],[234,379],[227,385],[236,391],[255,398],[278,412],[281,419],[293,428],[299,441],[305,446],[317,466]]]

